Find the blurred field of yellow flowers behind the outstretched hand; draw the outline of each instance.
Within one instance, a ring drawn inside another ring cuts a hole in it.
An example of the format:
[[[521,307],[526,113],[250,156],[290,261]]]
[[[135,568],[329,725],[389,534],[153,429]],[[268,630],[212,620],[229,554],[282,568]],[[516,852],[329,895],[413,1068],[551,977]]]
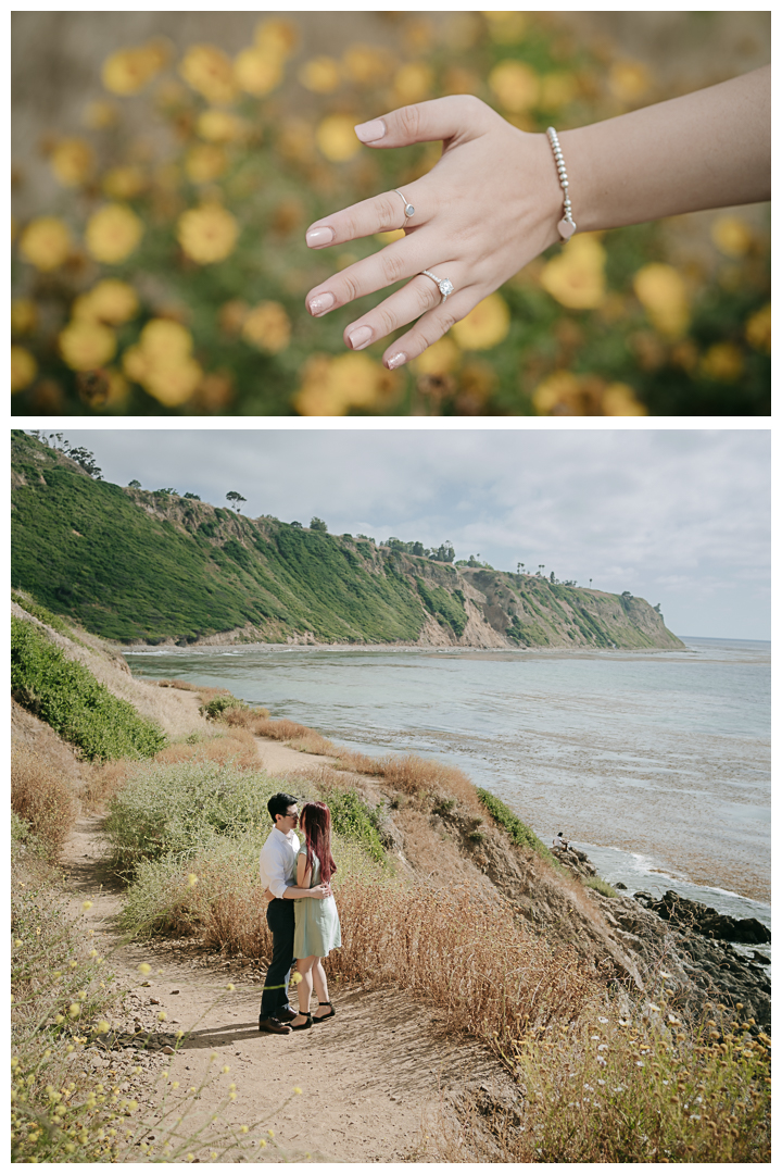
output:
[[[115,14],[98,15],[110,33]],[[356,122],[472,93],[525,130],[580,126],[762,63],[766,14],[748,14],[760,23],[744,56],[736,41],[707,75],[725,14],[639,14],[686,15],[692,76],[661,52],[658,68],[648,36],[645,54],[627,50],[630,13],[593,14],[593,28],[553,13],[320,14],[339,35],[314,50],[307,13],[227,14],[246,26],[238,50],[213,27],[186,45],[128,43],[128,15],[94,62],[81,124],[29,144],[56,181],[45,208],[25,191],[35,167],[14,173],[14,412],[769,412],[767,208],[576,236],[399,372],[380,363],[385,342],[346,350],[355,308],[315,321],[304,304],[392,236],[313,255],[307,225],[404,189],[440,155],[437,143],[367,150]],[[143,15],[166,32],[163,18],[178,18]]]

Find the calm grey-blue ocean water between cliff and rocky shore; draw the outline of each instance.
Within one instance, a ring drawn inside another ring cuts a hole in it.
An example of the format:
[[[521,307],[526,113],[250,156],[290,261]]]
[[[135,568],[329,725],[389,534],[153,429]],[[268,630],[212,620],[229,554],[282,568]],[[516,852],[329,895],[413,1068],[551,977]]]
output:
[[[461,767],[630,892],[770,925],[770,645],[666,652],[127,649],[132,673],[224,687],[367,754]]]

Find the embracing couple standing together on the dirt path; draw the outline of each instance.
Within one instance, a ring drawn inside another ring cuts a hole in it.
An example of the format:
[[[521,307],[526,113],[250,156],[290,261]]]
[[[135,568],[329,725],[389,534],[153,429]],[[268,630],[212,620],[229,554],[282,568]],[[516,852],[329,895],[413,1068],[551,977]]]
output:
[[[331,1019],[321,958],[342,944],[331,878],[336,871],[331,851],[332,821],[325,803],[305,803],[279,791],[268,801],[274,828],[260,850],[260,879],[268,900],[266,922],[272,933],[272,960],[266,972],[258,1030],[276,1035],[304,1031]],[[300,844],[295,826],[304,836]],[[293,962],[301,974],[299,1013],[288,1003]],[[318,1007],[310,1013],[312,987]]]

